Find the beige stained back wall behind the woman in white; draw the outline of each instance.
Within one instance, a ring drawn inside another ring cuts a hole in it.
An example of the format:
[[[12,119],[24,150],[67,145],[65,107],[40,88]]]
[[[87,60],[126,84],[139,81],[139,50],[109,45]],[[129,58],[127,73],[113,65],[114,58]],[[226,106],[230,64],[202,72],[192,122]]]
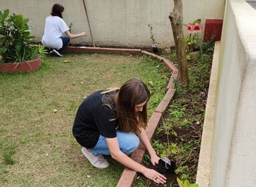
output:
[[[172,29],[168,15],[173,9],[173,0],[85,0],[92,36],[97,47],[151,47],[150,29],[158,47],[174,45]],[[87,37],[72,40],[72,44],[90,45],[92,39],[86,12],[82,0],[1,0],[0,9],[10,9],[29,18],[35,25],[31,31],[36,40],[41,40],[45,17],[54,3],[65,7],[63,19],[67,25],[73,23],[72,33],[86,31]],[[203,27],[205,19],[223,19],[225,0],[183,0],[184,23],[201,18]],[[186,35],[186,32],[184,32]],[[203,33],[202,33],[203,35]]]

